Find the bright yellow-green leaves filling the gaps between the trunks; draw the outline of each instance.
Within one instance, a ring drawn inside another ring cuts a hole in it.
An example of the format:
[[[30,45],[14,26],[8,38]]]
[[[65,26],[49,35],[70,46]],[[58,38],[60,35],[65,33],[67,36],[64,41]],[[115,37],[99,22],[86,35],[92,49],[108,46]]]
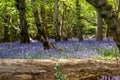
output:
[[[64,8],[63,8],[64,2]],[[95,26],[96,26],[96,11],[94,7],[88,4],[85,0],[79,0],[80,2],[80,25],[84,27],[83,34],[84,35],[93,35],[95,34]],[[35,3],[32,3],[31,0],[26,0],[26,19],[29,25],[29,34],[35,35],[36,25],[34,22],[34,16],[32,12],[32,8],[38,8],[40,21],[41,21],[41,10],[40,5],[45,5],[45,15],[46,15],[46,24],[47,24],[47,35],[49,37],[55,36],[55,27],[54,27],[54,0],[36,0]],[[75,0],[59,0],[58,1],[58,11],[59,11],[59,22],[61,24],[62,15],[64,11],[64,20],[63,20],[63,28],[65,34],[70,34],[73,36],[74,33],[73,28],[75,28],[77,24],[77,16],[76,16],[76,5]],[[12,16],[13,22],[12,24],[8,22],[4,22],[4,18],[6,15]],[[16,9],[15,0],[1,0],[0,1],[0,36],[4,35],[4,25],[8,25],[9,28],[13,27],[17,34],[20,33],[19,29],[19,15],[18,10]],[[94,27],[91,27],[94,26]],[[69,31],[69,33],[67,33]],[[10,33],[11,34],[11,33]]]

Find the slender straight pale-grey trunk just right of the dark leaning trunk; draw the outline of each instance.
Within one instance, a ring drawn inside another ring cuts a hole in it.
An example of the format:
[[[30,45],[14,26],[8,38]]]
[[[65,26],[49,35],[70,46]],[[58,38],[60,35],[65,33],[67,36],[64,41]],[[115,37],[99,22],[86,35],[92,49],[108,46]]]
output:
[[[60,37],[60,34],[59,34],[59,31],[60,31],[60,25],[59,25],[59,22],[58,22],[58,0],[54,0],[54,25],[55,25],[55,29],[56,29],[56,41],[60,41],[61,40],[61,37]]]

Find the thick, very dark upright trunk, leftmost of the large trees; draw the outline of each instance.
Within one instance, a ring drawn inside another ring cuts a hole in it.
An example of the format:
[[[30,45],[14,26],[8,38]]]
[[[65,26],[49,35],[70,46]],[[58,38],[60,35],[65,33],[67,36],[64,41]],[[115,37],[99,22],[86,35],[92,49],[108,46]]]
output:
[[[29,43],[30,39],[28,36],[28,24],[25,16],[25,0],[16,0],[16,7],[19,11],[20,18],[20,42]]]

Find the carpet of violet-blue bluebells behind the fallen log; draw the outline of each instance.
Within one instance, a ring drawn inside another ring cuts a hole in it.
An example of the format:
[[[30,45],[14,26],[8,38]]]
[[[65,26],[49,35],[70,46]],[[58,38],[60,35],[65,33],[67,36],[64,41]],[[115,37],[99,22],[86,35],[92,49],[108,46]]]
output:
[[[49,59],[49,58],[92,58],[95,56],[115,56],[116,46],[113,40],[96,41],[95,39],[77,38],[69,41],[55,42],[49,40],[56,49],[43,50],[40,42],[30,44],[20,44],[19,42],[0,43],[0,58],[20,58],[20,59]]]

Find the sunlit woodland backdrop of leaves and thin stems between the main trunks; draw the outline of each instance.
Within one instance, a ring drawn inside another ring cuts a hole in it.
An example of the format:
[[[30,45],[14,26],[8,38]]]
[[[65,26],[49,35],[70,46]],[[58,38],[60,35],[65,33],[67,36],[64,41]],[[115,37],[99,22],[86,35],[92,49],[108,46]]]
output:
[[[38,9],[38,14],[40,16],[41,26],[46,26],[47,37],[55,36],[54,27],[54,0],[25,0],[25,15],[26,20],[29,25],[28,34],[30,37],[34,38],[37,34],[36,24],[34,21],[34,14],[32,8]],[[82,2],[82,3],[81,3]],[[89,5],[85,0],[80,1],[80,23],[83,27],[83,35],[92,36],[95,34],[96,28],[96,11]],[[19,11],[16,8],[15,0],[2,0],[0,2],[0,36],[1,39],[4,38],[4,34],[9,37],[8,41],[20,40],[20,20]],[[59,0],[58,1],[58,22],[59,26],[62,27],[62,34],[67,37],[78,37],[76,35],[76,5],[75,0]],[[63,19],[64,18],[64,19]],[[4,31],[5,27],[8,31]],[[6,33],[5,33],[6,32]]]

